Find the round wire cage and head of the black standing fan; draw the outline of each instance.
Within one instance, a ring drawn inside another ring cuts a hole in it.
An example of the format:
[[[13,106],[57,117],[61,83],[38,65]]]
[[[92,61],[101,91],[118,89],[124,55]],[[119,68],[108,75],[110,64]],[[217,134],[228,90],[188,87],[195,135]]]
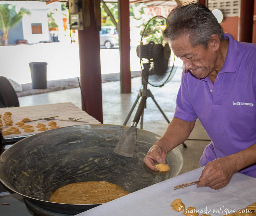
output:
[[[147,82],[155,87],[162,87],[169,82],[177,69],[174,66],[175,55],[171,52],[169,59],[164,59],[165,44],[163,31],[166,28],[166,18],[155,16],[151,18],[141,31],[141,41],[137,55],[140,58],[141,73]]]

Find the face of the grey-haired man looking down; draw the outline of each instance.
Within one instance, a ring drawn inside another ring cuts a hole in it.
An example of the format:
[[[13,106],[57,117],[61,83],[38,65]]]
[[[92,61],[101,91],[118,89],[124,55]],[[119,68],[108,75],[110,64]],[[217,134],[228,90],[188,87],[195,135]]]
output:
[[[174,54],[183,60],[185,70],[190,70],[197,78],[203,79],[214,70],[217,54],[210,43],[208,49],[201,45],[193,47],[187,34],[171,41],[171,47]]]

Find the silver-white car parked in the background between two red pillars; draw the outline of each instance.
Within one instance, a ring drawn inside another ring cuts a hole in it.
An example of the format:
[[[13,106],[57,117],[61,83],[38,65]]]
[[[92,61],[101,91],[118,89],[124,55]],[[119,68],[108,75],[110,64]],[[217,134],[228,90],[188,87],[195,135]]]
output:
[[[106,49],[113,48],[119,45],[118,32],[115,26],[101,26],[99,32],[100,46],[105,46]]]

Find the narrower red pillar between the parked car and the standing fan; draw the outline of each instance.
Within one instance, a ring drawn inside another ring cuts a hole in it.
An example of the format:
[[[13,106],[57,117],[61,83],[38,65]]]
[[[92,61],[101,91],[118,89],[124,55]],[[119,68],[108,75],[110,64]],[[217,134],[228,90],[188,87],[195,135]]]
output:
[[[118,0],[121,93],[131,92],[129,0]]]

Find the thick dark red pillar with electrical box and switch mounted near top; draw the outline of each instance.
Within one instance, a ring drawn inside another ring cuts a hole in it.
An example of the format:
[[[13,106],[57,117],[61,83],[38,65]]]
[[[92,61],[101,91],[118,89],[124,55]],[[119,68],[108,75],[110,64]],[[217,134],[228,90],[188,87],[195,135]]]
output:
[[[78,30],[82,110],[103,123],[99,32],[95,29],[94,4],[90,0],[90,29]]]

